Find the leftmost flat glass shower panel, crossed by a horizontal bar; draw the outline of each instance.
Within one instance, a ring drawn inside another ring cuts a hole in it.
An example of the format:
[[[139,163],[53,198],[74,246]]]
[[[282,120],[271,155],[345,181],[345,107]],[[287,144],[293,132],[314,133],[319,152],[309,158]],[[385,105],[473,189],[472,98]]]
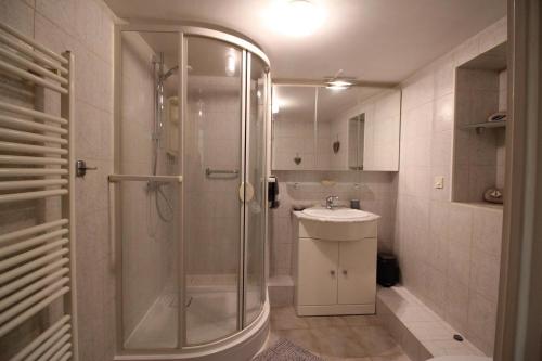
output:
[[[121,343],[179,340],[179,35],[122,31],[115,196],[121,242]]]

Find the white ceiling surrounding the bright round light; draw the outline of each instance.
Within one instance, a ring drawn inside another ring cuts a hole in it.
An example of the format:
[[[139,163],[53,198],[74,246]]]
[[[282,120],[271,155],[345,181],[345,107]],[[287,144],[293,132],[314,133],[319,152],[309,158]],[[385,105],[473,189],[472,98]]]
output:
[[[506,0],[311,0],[324,24],[312,35],[280,35],[263,21],[278,0],[105,0],[120,17],[196,21],[254,39],[274,78],[344,75],[400,81],[506,14]]]

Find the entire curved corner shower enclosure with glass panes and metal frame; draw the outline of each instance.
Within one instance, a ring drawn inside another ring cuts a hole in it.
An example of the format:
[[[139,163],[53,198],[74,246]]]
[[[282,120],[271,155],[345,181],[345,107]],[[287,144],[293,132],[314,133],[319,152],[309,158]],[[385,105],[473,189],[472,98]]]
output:
[[[198,27],[120,25],[115,46],[119,351],[223,347],[267,323],[269,62]]]

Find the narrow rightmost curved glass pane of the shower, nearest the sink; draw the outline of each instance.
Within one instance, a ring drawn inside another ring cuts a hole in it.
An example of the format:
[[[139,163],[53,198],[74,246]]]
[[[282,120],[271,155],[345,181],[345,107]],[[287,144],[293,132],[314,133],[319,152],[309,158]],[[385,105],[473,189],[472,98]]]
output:
[[[244,326],[256,320],[266,299],[266,107],[269,98],[267,66],[249,54],[247,68]]]

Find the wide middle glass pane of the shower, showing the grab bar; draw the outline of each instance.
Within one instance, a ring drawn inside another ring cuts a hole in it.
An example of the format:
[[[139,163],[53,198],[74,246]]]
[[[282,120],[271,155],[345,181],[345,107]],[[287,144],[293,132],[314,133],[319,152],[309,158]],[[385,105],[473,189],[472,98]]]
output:
[[[185,344],[240,330],[243,52],[186,37],[183,150]]]

